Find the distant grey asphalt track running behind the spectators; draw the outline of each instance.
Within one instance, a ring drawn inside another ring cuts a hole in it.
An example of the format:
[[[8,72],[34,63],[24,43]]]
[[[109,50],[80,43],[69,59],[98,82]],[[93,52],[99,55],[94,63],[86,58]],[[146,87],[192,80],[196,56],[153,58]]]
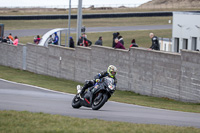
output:
[[[120,31],[136,31],[136,30],[162,30],[172,29],[172,25],[140,25],[140,26],[118,26],[118,27],[86,27],[86,33],[91,32],[120,32]],[[22,29],[22,30],[6,30],[5,36],[12,33],[13,36],[36,36],[43,35],[51,29]],[[76,33],[76,29],[71,29],[71,33]]]

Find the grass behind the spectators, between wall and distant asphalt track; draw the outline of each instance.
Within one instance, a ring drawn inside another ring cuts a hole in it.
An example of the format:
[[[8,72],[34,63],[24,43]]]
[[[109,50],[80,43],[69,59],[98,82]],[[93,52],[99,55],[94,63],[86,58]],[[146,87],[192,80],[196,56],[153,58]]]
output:
[[[149,38],[149,33],[153,32],[158,37],[171,38],[172,30],[142,30],[142,31],[121,31],[120,34],[124,38],[125,48],[129,48],[131,45],[131,40],[134,38],[139,47],[149,48],[151,46],[151,39]],[[87,33],[87,38],[92,41],[93,45],[99,38],[103,37],[103,46],[112,47],[112,33],[113,32],[97,32],[97,33]],[[71,36],[76,40],[76,34],[71,34]],[[19,42],[26,44],[27,42],[33,43],[34,36],[20,37]],[[62,35],[61,43],[65,44],[65,37]]]

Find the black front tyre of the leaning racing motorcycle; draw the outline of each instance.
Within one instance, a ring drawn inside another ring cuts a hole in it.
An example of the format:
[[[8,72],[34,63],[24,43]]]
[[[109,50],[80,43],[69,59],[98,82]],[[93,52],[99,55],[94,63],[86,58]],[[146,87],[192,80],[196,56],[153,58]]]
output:
[[[107,94],[103,94],[101,96],[101,98],[99,98],[98,100],[96,100],[96,98],[97,97],[95,97],[95,99],[93,100],[93,103],[92,103],[92,109],[93,110],[100,109],[107,102],[108,95]]]

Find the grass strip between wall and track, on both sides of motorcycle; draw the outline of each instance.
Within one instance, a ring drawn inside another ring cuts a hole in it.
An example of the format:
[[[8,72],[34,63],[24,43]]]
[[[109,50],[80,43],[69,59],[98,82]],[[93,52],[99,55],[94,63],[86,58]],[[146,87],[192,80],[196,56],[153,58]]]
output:
[[[76,93],[76,86],[80,84],[70,80],[34,74],[5,66],[0,66],[0,78],[73,94]],[[199,103],[184,103],[167,98],[142,96],[128,91],[117,90],[111,97],[111,100],[161,109],[200,113]]]

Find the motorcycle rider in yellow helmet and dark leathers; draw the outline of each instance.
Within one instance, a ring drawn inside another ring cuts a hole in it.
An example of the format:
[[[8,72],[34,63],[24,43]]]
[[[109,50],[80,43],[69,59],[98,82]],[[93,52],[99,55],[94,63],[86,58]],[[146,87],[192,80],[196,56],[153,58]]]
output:
[[[117,79],[115,77],[116,73],[117,73],[117,68],[115,66],[113,66],[113,65],[110,65],[108,67],[107,71],[102,71],[101,73],[99,73],[98,75],[96,75],[94,77],[94,80],[89,80],[89,81],[85,82],[85,84],[84,84],[81,92],[79,93],[80,97],[83,97],[83,94],[84,94],[84,92],[85,92],[85,90],[87,88],[94,86],[95,83],[100,82],[100,80],[103,77],[106,77],[106,76],[113,78],[115,86],[116,86],[116,84],[117,84]]]

